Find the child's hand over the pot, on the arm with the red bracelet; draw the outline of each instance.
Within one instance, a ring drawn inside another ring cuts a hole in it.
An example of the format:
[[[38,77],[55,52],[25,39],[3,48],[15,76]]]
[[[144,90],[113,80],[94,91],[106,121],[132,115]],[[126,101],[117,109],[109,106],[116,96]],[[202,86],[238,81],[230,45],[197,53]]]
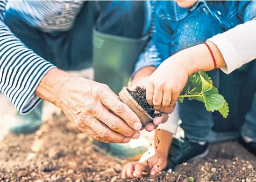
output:
[[[146,98],[155,110],[172,113],[173,106],[190,76],[181,59],[184,58],[180,54],[171,56],[149,77]]]

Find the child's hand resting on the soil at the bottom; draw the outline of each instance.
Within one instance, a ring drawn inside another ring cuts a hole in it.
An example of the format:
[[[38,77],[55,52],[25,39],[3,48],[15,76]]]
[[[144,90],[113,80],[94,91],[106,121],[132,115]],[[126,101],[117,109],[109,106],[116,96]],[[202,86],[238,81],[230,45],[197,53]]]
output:
[[[167,156],[161,152],[149,157],[145,162],[129,162],[122,169],[122,178],[142,177],[142,172],[149,168],[150,175],[164,170],[167,166]]]

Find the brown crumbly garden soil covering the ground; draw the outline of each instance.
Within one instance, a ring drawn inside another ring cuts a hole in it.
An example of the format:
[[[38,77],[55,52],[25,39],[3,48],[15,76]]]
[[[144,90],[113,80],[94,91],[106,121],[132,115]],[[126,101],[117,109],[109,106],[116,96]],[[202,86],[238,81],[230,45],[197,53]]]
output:
[[[184,163],[174,173],[121,179],[121,166],[127,161],[110,156],[107,144],[93,142],[65,117],[58,117],[35,134],[9,134],[0,141],[0,182],[256,182],[250,163],[256,159],[244,148],[229,142],[212,149],[217,159]]]

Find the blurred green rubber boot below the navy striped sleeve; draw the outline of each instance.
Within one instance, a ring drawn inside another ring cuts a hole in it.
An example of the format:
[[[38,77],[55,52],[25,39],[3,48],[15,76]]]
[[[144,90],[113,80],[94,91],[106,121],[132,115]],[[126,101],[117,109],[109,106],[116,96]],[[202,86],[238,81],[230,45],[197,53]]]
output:
[[[43,101],[27,115],[17,113],[10,123],[10,133],[30,134],[34,133],[42,125]]]

